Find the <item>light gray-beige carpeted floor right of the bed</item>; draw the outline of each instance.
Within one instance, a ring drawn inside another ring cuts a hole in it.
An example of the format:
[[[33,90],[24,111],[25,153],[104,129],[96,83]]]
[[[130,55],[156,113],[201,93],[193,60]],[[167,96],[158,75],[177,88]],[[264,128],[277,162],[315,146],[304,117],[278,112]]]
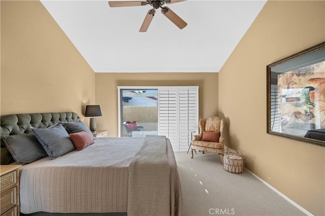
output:
[[[225,171],[215,153],[175,152],[183,215],[306,215],[247,170]]]

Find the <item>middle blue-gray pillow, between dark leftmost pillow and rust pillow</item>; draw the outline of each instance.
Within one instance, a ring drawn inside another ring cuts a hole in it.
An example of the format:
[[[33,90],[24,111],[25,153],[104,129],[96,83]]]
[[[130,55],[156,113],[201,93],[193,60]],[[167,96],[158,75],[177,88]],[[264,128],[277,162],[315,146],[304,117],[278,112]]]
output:
[[[49,128],[30,127],[50,158],[55,159],[75,150],[68,132],[61,123]]]

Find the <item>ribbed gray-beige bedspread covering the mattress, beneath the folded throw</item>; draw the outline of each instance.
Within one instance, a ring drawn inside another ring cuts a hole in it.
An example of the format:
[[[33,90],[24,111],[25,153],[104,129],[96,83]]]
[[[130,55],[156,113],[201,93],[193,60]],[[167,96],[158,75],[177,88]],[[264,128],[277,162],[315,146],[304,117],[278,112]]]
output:
[[[82,151],[55,160],[46,157],[21,167],[21,212],[126,212],[128,166],[143,142],[143,137],[98,138]],[[182,194],[169,140],[167,151],[171,166],[170,208],[179,214]]]

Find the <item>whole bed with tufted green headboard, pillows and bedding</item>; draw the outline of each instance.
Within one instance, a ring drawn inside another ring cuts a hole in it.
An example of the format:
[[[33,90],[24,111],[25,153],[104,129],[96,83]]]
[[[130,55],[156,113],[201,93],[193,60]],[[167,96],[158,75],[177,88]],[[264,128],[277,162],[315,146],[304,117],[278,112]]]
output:
[[[23,165],[21,213],[181,215],[180,179],[168,138],[91,137],[94,143],[79,149],[74,137],[90,134],[73,112],[1,117],[1,164]]]

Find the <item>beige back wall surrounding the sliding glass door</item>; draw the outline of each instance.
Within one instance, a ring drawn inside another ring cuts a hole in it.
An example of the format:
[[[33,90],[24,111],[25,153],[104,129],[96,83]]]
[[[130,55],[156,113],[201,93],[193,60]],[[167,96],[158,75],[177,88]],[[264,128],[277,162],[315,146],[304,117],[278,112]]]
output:
[[[96,73],[97,128],[118,136],[117,86],[199,86],[199,116],[218,114],[217,73]]]

